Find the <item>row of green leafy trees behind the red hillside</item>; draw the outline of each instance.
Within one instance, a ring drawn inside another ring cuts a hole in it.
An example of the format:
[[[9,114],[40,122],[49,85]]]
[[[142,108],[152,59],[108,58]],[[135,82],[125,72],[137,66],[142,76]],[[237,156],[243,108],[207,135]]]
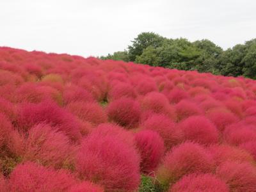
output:
[[[144,32],[124,51],[100,59],[256,79],[256,38],[224,51],[207,39],[189,42],[186,38],[172,39]]]

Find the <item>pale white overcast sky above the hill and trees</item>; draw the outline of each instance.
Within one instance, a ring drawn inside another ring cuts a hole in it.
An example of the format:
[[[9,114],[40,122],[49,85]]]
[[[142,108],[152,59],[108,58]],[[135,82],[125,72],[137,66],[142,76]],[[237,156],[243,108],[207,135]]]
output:
[[[256,38],[255,10],[255,0],[1,0],[0,46],[100,56],[152,31],[227,49]]]

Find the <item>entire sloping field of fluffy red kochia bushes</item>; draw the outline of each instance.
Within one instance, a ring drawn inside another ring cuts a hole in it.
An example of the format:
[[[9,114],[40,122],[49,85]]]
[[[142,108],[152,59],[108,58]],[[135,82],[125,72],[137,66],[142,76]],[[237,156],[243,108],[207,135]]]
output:
[[[0,48],[0,192],[256,191],[256,83]]]

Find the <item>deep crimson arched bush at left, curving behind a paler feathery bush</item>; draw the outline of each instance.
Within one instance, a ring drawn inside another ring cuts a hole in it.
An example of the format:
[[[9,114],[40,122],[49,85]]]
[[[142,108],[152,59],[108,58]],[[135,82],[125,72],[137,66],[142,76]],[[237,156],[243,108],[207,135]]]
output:
[[[40,102],[38,104],[22,104],[17,120],[17,129],[28,131],[36,124],[45,123],[62,131],[73,141],[79,141],[81,134],[79,132],[79,123],[71,114],[61,109],[54,102]]]

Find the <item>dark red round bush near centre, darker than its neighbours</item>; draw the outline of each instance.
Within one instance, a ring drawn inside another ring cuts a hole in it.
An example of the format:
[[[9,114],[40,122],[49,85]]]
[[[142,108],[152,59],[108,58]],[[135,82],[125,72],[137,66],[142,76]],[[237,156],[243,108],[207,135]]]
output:
[[[138,102],[129,98],[121,98],[109,104],[107,113],[110,121],[132,128],[139,124],[141,110]]]

